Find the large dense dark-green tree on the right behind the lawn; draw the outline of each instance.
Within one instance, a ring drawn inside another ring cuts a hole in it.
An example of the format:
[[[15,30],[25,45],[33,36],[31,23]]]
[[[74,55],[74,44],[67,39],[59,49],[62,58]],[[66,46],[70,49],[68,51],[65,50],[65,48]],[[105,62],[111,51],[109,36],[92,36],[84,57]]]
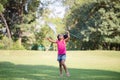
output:
[[[70,26],[70,32],[80,38],[75,39],[71,35],[73,42],[76,40],[81,43],[79,45],[74,42],[78,49],[111,49],[111,44],[117,43],[117,47],[114,47],[120,50],[118,5],[118,0],[98,0],[72,6],[66,16],[66,26]]]

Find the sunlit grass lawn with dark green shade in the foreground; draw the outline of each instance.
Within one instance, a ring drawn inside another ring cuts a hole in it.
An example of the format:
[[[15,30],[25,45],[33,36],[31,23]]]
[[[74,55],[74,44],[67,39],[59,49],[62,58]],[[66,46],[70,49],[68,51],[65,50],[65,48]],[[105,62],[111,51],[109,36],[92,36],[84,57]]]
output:
[[[120,80],[119,51],[68,51],[59,77],[55,51],[0,51],[0,80]]]

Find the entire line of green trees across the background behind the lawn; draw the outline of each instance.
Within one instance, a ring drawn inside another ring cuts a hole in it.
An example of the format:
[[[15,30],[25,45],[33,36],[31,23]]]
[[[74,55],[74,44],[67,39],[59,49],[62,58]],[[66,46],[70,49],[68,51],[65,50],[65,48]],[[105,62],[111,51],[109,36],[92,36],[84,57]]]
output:
[[[64,19],[48,17],[47,5],[55,1],[0,0],[0,49],[54,46],[44,40],[48,36],[56,39],[47,25],[53,22],[58,33],[70,31],[69,50],[120,50],[120,0],[62,0]]]

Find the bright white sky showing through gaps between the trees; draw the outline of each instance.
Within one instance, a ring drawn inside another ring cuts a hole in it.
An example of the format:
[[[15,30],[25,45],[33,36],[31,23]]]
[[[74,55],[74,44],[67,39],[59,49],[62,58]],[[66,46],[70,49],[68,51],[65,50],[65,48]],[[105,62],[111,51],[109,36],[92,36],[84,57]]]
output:
[[[57,0],[57,1],[56,0],[41,0],[42,3],[46,3],[46,1],[50,1],[50,2],[55,1],[54,3],[46,6],[51,11],[49,18],[55,18],[55,17],[64,18],[66,7],[63,6],[61,0]],[[42,6],[39,5],[38,11],[40,7]],[[37,15],[39,15],[39,13]],[[39,17],[38,19],[36,19],[36,21],[39,23],[38,25],[36,25],[36,30],[39,30],[40,25],[44,24],[45,21],[42,20],[42,17]],[[53,30],[54,34],[57,34],[56,26],[54,25],[54,23],[47,23],[47,24]]]

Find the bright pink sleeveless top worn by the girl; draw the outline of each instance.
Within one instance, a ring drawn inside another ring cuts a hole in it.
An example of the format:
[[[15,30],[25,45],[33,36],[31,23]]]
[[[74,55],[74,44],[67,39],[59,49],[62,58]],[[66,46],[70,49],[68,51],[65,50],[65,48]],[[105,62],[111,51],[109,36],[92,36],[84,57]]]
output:
[[[58,54],[66,54],[66,42],[65,40],[57,40]]]

